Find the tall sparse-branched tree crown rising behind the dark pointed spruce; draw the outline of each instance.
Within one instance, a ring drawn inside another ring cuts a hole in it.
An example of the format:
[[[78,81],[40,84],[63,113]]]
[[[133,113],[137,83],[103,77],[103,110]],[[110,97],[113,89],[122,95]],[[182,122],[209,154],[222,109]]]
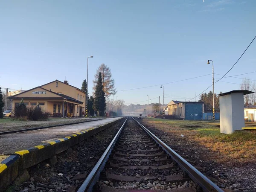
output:
[[[116,94],[115,81],[112,78],[110,68],[107,67],[107,65],[105,65],[104,63],[98,67],[97,72],[94,75],[95,80],[93,80],[93,91],[95,91],[96,89],[96,83],[99,76],[99,72],[101,72],[102,74],[103,90],[106,94],[106,97],[110,95],[115,95]]]

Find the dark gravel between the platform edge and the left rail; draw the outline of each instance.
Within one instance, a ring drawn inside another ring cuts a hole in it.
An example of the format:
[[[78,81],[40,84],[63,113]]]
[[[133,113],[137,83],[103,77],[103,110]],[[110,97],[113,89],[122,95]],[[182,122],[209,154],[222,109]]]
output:
[[[99,160],[124,119],[93,137],[74,145],[69,150],[56,155],[55,166],[49,160],[28,169],[30,179],[21,186],[10,186],[15,192],[64,192],[83,183],[87,174]]]

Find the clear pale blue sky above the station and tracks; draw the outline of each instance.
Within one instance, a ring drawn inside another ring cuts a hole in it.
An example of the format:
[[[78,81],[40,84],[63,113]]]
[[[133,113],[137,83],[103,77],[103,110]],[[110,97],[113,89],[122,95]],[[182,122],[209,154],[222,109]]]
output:
[[[163,96],[163,89],[120,90],[211,74],[207,59],[224,75],[256,35],[255,7],[255,0],[0,0],[0,85],[28,90],[66,78],[81,87],[93,55],[89,92],[105,63],[118,99],[137,104]],[[256,41],[228,75],[255,66]],[[225,78],[237,84],[218,82],[215,92],[238,89],[241,80]],[[211,75],[165,84],[165,103],[195,97],[210,84]]]

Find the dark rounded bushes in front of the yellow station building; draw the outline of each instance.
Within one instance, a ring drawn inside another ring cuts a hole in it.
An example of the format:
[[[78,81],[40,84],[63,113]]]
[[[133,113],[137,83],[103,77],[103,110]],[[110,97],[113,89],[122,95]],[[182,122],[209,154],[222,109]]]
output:
[[[19,105],[15,108],[15,117],[19,120],[44,120],[48,119],[51,113],[42,111],[38,106],[28,106],[23,103],[23,99],[20,101]]]

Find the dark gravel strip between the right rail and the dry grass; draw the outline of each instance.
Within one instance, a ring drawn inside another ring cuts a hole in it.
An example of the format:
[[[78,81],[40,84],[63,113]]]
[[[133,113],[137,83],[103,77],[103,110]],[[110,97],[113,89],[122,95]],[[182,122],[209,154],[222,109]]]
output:
[[[186,136],[172,134],[172,128],[166,131],[148,125],[145,121],[141,123],[153,134],[163,140],[186,160],[189,160],[200,172],[217,183],[219,187],[236,192],[256,192],[256,166],[244,165],[233,166],[231,163],[218,163],[209,159],[207,154],[214,153],[195,141],[188,140]],[[217,153],[215,155],[218,155]]]

